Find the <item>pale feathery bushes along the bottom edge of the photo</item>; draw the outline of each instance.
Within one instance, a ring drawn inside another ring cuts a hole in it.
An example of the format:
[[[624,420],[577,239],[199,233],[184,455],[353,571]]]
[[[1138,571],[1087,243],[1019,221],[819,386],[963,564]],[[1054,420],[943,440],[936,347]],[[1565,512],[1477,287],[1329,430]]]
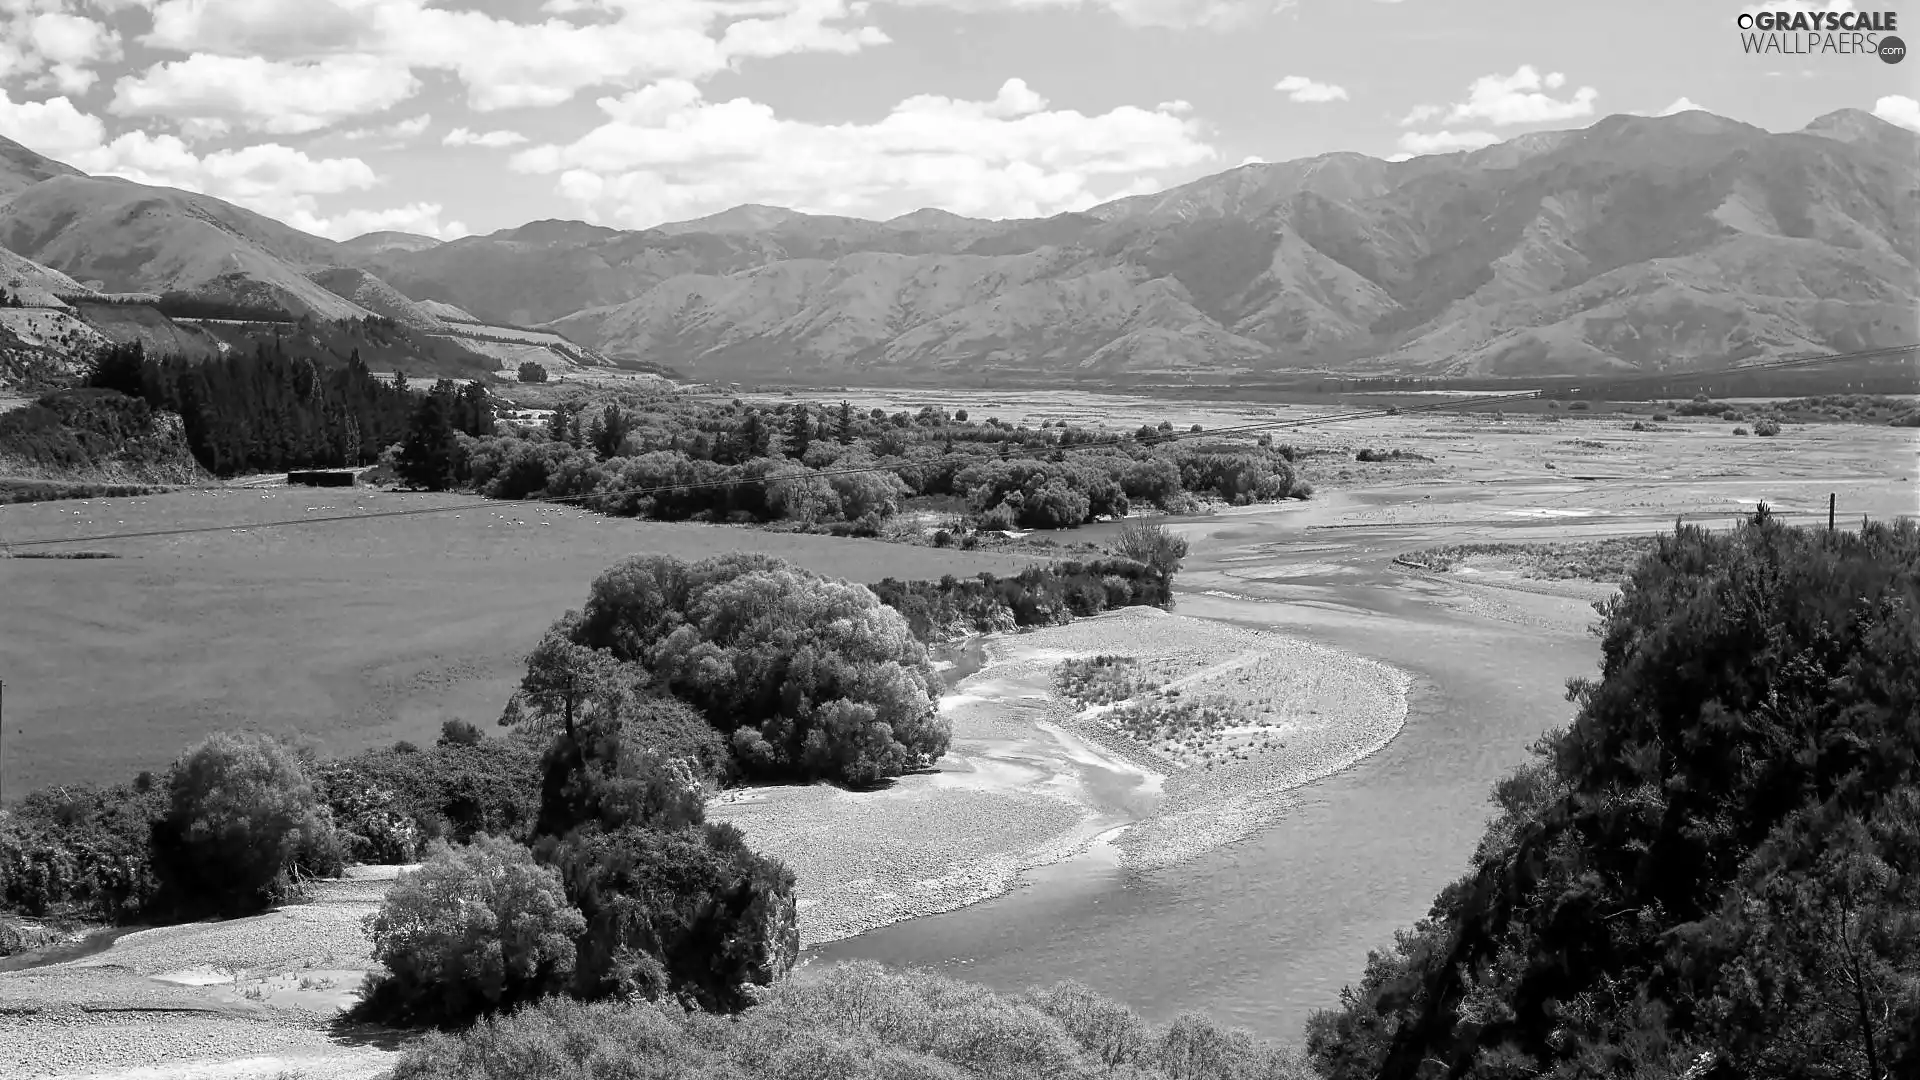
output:
[[[1306,1080],[1288,1049],[1187,1015],[1150,1026],[1081,986],[993,994],[929,972],[837,965],[735,1019],[543,1001],[430,1036],[394,1080]]]

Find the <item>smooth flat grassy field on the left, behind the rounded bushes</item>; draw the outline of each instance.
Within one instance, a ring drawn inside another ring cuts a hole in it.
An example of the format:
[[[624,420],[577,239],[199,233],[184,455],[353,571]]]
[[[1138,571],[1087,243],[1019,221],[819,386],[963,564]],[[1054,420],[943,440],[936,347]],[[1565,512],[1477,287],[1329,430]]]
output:
[[[276,488],[8,505],[0,548],[465,502]],[[492,724],[545,626],[634,553],[768,552],[860,582],[1029,561],[528,503],[38,550],[121,557],[0,557],[10,799],[165,767],[215,728],[305,734],[351,751],[430,740],[449,717]]]

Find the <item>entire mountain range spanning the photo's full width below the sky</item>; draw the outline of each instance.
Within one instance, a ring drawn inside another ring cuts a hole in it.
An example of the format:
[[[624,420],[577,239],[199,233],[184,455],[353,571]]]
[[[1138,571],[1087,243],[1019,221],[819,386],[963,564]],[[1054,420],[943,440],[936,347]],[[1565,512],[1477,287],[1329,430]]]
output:
[[[1252,163],[1044,219],[739,206],[323,240],[0,140],[0,248],[108,292],[551,331],[699,379],[1686,371],[1920,340],[1920,135],[1611,115]]]

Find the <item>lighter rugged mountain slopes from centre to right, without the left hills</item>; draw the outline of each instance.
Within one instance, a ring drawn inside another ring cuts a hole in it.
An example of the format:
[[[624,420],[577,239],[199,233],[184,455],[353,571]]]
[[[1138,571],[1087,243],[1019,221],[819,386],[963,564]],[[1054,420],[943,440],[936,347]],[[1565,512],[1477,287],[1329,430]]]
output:
[[[1786,135],[1688,111],[1244,165],[1044,221],[739,208],[662,229],[716,265],[557,325],[735,379],[1684,371],[1920,340],[1916,165],[1920,136],[1860,111]]]

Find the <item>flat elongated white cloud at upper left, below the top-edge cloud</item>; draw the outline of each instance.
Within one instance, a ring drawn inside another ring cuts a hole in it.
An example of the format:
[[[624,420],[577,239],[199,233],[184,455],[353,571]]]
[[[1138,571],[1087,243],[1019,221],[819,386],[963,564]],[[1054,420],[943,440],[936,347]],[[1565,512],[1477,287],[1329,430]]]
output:
[[[305,135],[386,111],[419,88],[405,67],[371,54],[284,61],[198,52],[119,79],[108,111],[177,119],[190,136],[232,127]]]

